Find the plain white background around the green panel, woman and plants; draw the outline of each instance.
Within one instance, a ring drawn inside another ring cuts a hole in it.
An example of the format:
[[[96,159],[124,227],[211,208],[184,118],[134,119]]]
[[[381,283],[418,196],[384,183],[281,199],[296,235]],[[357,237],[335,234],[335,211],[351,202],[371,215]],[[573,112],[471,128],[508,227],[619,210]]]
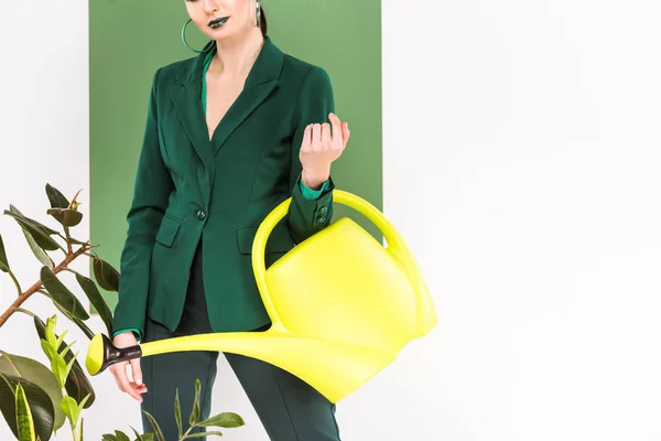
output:
[[[89,206],[87,2],[3,8],[0,208],[47,222],[46,182],[83,189]],[[426,275],[440,325],[339,405],[343,440],[661,439],[661,7],[382,9],[384,212]],[[31,284],[40,263],[7,216],[0,234]],[[77,228],[87,235],[88,219]],[[0,277],[2,310],[14,295]],[[53,311],[39,298],[25,306]],[[86,338],[68,327],[83,361]],[[0,347],[45,362],[22,315]],[[109,375],[93,384],[86,439],[140,427]],[[224,361],[221,410],[248,420],[226,440],[267,440]],[[3,421],[0,439],[11,439]]]

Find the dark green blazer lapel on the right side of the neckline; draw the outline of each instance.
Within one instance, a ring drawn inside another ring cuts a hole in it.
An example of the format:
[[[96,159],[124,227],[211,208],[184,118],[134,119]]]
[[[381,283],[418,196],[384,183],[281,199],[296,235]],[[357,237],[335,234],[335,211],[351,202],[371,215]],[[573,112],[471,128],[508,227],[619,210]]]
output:
[[[257,109],[278,85],[284,54],[266,35],[264,44],[248,73],[243,89],[225,114],[214,131],[212,148],[214,155],[227,138]]]

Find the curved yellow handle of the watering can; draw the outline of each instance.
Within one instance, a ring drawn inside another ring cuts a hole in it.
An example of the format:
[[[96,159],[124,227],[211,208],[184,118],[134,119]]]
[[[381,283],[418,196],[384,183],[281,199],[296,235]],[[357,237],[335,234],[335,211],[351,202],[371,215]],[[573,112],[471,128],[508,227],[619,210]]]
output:
[[[383,234],[383,237],[388,243],[389,252],[395,255],[399,258],[399,260],[404,265],[407,272],[409,273],[409,278],[415,287],[414,292],[416,295],[415,300],[418,303],[419,314],[418,322],[420,326],[425,327],[425,325],[423,324],[424,295],[422,290],[426,290],[426,284],[424,282],[424,279],[422,278],[422,273],[420,272],[418,263],[413,259],[409,247],[401,238],[399,233],[394,229],[394,227],[390,224],[390,222],[388,222],[388,219],[377,207],[353,193],[348,193],[342,190],[334,190],[333,201],[347,205],[364,214]],[[280,320],[278,318],[275,306],[271,301],[271,297],[268,295],[269,288],[267,286],[264,249],[267,246],[267,240],[269,239],[269,235],[271,234],[275,225],[278,225],[278,223],[286,215],[290,204],[291,197],[280,203],[280,205],[278,205],[273,211],[271,211],[271,213],[267,215],[267,217],[260,224],[257,234],[254,235],[254,241],[252,243],[252,268],[254,272],[254,278],[259,291],[262,293],[264,308],[269,313],[269,316],[272,319],[274,325],[279,324]]]

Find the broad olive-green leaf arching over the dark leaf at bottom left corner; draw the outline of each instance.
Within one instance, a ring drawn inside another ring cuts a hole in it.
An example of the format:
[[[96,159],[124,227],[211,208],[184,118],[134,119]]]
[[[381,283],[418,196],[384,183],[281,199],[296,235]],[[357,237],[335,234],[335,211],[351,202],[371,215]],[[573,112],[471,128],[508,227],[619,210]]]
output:
[[[54,430],[64,424],[64,412],[59,409],[62,389],[51,369],[32,358],[4,353],[0,356],[0,373],[25,378],[42,388],[53,402]]]

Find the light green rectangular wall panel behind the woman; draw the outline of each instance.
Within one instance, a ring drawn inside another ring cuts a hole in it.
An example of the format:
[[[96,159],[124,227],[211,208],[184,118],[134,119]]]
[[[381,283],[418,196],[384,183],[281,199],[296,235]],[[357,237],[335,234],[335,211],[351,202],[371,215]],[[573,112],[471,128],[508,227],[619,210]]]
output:
[[[351,139],[333,168],[340,190],[382,208],[381,2],[380,0],[262,1],[269,35],[285,53],[330,75],[336,112]],[[90,11],[91,240],[119,269],[152,75],[195,54],[181,41],[187,20],[183,0],[95,0]],[[205,40],[188,26],[189,43]],[[361,215],[337,206],[380,235]],[[115,308],[116,295],[106,295]]]

